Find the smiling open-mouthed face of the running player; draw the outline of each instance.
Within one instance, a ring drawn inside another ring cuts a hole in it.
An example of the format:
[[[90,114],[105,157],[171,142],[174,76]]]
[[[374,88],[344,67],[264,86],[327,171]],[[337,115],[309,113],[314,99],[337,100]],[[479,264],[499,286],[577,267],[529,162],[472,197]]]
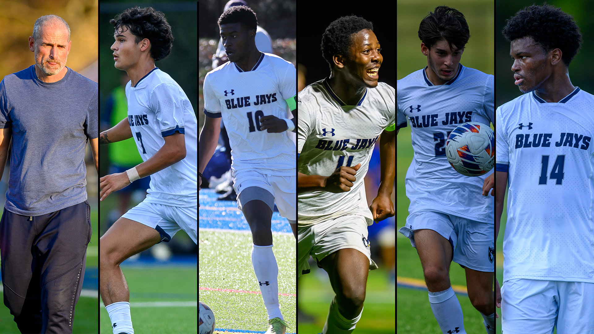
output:
[[[361,86],[377,87],[380,78],[378,71],[384,57],[381,55],[380,42],[371,30],[361,30],[351,35],[353,44],[350,46],[350,55],[345,59],[345,68],[351,81],[356,81]]]

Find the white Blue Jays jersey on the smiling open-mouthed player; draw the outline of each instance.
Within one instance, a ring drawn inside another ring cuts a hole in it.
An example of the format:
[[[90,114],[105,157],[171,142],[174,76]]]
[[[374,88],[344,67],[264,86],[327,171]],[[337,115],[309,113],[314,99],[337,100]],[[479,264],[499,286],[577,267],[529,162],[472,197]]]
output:
[[[350,191],[305,191],[297,198],[298,225],[312,226],[343,215],[373,217],[367,205],[364,177],[375,141],[388,128],[394,131],[394,88],[378,83],[367,88],[356,106],[348,106],[330,88],[327,79],[299,92],[297,143],[298,171],[330,176],[340,166],[361,163]]]

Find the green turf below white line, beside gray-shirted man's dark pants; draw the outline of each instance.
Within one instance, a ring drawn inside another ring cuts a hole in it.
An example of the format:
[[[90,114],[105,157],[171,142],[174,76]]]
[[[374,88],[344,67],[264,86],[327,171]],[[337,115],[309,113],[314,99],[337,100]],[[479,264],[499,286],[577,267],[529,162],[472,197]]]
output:
[[[0,299],[4,299],[4,294],[0,293]],[[2,304],[0,307],[0,333],[20,333],[17,323],[12,319],[12,314]],[[74,334],[97,333],[97,298],[80,297],[78,299],[72,326]]]

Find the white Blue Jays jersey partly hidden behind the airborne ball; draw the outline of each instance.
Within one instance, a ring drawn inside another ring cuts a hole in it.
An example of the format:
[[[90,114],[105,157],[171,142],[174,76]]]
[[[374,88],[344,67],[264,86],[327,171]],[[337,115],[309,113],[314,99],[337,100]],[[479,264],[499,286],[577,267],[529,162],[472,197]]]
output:
[[[493,122],[493,75],[460,64],[456,77],[435,86],[423,69],[398,80],[397,89],[398,128],[410,120],[415,151],[405,180],[409,213],[429,210],[492,223],[493,197],[482,196],[492,171],[480,177],[459,174],[445,157],[445,140],[462,123]]]

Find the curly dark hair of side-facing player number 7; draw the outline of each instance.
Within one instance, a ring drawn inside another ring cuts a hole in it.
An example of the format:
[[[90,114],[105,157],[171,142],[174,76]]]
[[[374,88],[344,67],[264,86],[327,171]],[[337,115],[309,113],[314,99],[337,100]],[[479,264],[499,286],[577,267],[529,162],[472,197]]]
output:
[[[116,32],[130,30],[138,44],[143,39],[150,40],[150,55],[154,61],[164,59],[171,53],[173,34],[167,23],[165,14],[152,7],[128,8],[122,14],[116,15],[109,23],[113,24]]]

